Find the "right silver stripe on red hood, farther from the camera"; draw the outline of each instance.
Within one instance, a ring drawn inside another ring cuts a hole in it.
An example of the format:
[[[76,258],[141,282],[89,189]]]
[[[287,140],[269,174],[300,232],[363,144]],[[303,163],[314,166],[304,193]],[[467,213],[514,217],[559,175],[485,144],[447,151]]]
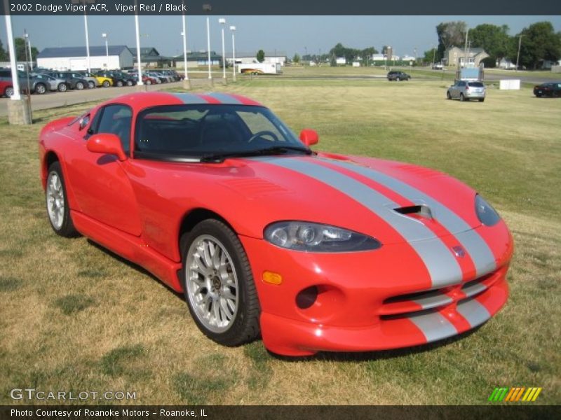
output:
[[[487,245],[487,242],[471,228],[464,219],[459,217],[454,211],[448,209],[444,204],[438,202],[430,195],[417,190],[403,181],[393,178],[377,171],[376,169],[367,168],[359,165],[354,165],[346,162],[339,162],[337,160],[322,159],[325,162],[330,162],[332,165],[348,169],[351,172],[360,174],[376,181],[377,183],[390,188],[399,195],[407,198],[411,202],[419,202],[421,200],[428,207],[435,216],[435,219],[442,224],[449,232],[456,237],[457,241],[464,247],[470,255],[475,265],[475,272],[477,276],[483,276],[492,272],[496,268],[496,261],[494,255]],[[474,204],[475,211],[475,204]]]

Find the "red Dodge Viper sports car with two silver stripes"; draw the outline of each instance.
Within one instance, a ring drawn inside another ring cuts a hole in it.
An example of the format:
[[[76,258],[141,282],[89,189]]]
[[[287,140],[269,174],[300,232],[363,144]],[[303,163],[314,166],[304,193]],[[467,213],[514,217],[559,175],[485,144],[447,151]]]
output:
[[[513,239],[491,205],[440,172],[317,142],[236,94],[128,94],[43,128],[48,218],[184,292],[227,346],[391,349],[499,311]]]

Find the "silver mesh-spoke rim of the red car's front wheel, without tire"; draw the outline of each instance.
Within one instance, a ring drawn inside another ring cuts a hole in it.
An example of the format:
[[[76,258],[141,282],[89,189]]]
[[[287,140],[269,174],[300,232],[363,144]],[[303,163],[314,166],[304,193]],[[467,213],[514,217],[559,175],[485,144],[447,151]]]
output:
[[[187,251],[189,304],[212,332],[227,331],[238,312],[238,277],[224,245],[211,235],[197,237]]]

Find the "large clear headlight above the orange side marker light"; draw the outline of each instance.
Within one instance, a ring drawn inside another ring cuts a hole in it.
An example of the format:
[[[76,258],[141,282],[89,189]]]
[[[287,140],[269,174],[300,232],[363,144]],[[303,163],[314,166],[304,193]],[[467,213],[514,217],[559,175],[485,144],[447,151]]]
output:
[[[309,222],[277,222],[265,228],[264,237],[281,248],[308,252],[371,251],[381,243],[358,232]]]

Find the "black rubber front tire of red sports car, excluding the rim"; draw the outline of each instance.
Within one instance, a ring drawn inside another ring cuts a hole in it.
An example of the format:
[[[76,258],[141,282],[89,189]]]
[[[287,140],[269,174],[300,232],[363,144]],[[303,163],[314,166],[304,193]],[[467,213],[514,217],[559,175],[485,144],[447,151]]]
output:
[[[234,323],[224,332],[212,332],[205,328],[205,325],[203,325],[203,323],[201,323],[198,319],[194,308],[191,307],[189,296],[187,294],[187,252],[189,251],[189,247],[193,241],[201,235],[210,235],[220,241],[220,243],[228,251],[231,262],[236,270],[236,278],[238,281],[238,309],[236,311]],[[191,317],[195,321],[199,330],[215,342],[226,346],[238,346],[254,339],[256,334],[248,334],[248,328],[250,329],[249,324],[254,322],[252,318],[255,317],[256,314],[258,321],[259,303],[257,300],[252,303],[250,293],[253,293],[256,296],[255,283],[253,281],[253,275],[247,255],[245,254],[245,250],[243,249],[243,246],[236,234],[224,223],[215,219],[207,219],[198,223],[190,232],[182,237],[181,251],[183,265],[181,283],[184,290],[184,297],[187,302],[187,307],[189,307]],[[253,307],[255,304],[257,307]]]

